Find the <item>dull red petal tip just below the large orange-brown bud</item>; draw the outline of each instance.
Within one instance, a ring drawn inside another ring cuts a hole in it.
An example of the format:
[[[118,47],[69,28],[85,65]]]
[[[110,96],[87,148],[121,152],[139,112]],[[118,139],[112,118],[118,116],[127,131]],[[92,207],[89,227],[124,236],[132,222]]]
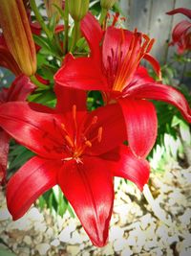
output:
[[[18,76],[8,90],[7,102],[25,101],[36,86],[25,75]]]

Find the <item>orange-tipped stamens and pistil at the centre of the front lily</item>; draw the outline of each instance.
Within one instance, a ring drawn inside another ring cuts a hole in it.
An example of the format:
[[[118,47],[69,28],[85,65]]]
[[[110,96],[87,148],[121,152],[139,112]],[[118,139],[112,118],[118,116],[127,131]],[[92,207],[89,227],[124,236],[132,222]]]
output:
[[[85,150],[92,148],[94,142],[101,142],[103,128],[97,128],[96,135],[91,136],[91,131],[95,129],[94,126],[97,123],[97,116],[94,116],[90,124],[86,128],[80,130],[77,126],[76,105],[73,105],[72,122],[73,135],[70,134],[64,124],[61,124],[61,128],[64,131],[64,147],[70,155],[69,157],[64,158],[64,160],[75,159],[76,161],[80,161],[80,156]]]

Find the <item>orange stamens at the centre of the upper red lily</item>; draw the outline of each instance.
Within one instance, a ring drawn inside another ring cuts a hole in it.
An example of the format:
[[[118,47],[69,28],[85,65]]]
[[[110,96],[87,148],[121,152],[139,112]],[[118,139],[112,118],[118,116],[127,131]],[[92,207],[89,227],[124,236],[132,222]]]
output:
[[[123,52],[120,49],[125,40],[123,30],[121,30],[121,34],[121,43],[119,44],[117,53],[117,69],[113,83],[113,90],[116,91],[122,91],[124,87],[132,80],[140,60],[144,58],[145,54],[151,51],[155,42],[155,39],[150,39],[148,35],[141,35],[136,29],[132,35],[129,48],[125,56],[123,56]],[[143,42],[141,42],[142,38]]]

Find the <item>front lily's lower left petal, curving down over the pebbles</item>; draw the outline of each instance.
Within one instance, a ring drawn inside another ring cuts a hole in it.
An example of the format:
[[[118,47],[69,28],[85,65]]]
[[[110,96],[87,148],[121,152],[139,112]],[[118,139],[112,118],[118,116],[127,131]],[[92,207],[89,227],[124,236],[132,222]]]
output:
[[[56,183],[61,162],[32,157],[14,175],[7,186],[8,209],[12,219],[21,218],[40,195]]]

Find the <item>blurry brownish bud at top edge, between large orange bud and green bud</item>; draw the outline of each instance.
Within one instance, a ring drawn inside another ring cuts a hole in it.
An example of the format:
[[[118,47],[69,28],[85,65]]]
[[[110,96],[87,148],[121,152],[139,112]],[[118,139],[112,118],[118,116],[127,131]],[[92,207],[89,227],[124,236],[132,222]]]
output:
[[[53,15],[55,14],[56,22],[58,22],[60,18],[60,13],[55,6],[62,9],[62,0],[44,0],[44,3],[49,19],[51,19],[51,17],[53,17]]]

